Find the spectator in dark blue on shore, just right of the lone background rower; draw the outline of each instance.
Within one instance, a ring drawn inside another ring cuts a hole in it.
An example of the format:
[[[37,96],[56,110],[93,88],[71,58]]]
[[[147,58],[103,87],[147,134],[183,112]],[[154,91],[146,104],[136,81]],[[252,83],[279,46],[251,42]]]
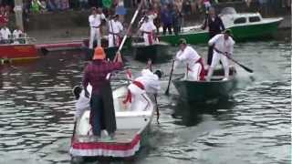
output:
[[[161,14],[162,14],[163,35],[166,34],[166,29],[168,30],[168,34],[172,35],[172,6],[163,5]]]

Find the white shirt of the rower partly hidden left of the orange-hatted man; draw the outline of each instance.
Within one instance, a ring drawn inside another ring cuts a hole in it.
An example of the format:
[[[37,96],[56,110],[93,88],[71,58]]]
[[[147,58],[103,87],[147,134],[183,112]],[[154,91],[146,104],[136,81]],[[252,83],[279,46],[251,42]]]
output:
[[[88,89],[89,94],[91,96],[92,87],[89,85],[87,87],[87,89]],[[90,97],[89,98],[85,97],[84,89],[80,93],[80,97],[78,98],[78,100],[75,104],[75,108],[76,108],[76,114],[75,114],[76,118],[80,118],[85,110],[90,109]]]

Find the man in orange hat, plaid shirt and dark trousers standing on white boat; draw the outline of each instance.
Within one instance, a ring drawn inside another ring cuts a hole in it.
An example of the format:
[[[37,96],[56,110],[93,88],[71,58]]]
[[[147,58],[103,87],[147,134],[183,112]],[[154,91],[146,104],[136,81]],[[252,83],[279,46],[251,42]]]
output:
[[[89,97],[88,85],[92,86],[90,124],[96,138],[100,138],[102,129],[106,129],[110,137],[113,138],[117,129],[110,87],[110,72],[122,68],[123,63],[120,53],[117,53],[113,62],[107,62],[105,58],[106,54],[103,48],[98,46],[95,49],[92,62],[85,68],[82,82],[86,97]]]

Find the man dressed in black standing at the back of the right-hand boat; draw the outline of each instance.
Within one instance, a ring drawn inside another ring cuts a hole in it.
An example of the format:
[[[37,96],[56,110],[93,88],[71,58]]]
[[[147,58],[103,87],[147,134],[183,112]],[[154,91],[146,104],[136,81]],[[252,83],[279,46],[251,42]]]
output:
[[[218,15],[215,15],[215,9],[213,7],[209,8],[209,15],[204,20],[202,29],[205,29],[207,26],[209,28],[209,39],[217,34],[221,34],[225,29],[222,19]],[[209,46],[207,59],[208,66],[211,66],[212,56],[213,46]]]

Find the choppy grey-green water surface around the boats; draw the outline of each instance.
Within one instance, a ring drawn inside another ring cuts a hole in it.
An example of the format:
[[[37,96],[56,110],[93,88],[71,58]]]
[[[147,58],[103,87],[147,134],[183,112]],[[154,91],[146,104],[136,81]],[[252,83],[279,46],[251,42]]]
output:
[[[206,52],[204,46],[195,48]],[[107,163],[290,163],[290,50],[281,42],[236,45],[235,58],[255,73],[238,67],[239,90],[216,105],[186,104],[173,86],[165,97],[171,62],[155,65],[166,74],[158,99],[161,124],[153,121],[149,144],[136,159]],[[78,53],[1,67],[0,163],[69,163],[71,88],[80,84],[83,67]]]

